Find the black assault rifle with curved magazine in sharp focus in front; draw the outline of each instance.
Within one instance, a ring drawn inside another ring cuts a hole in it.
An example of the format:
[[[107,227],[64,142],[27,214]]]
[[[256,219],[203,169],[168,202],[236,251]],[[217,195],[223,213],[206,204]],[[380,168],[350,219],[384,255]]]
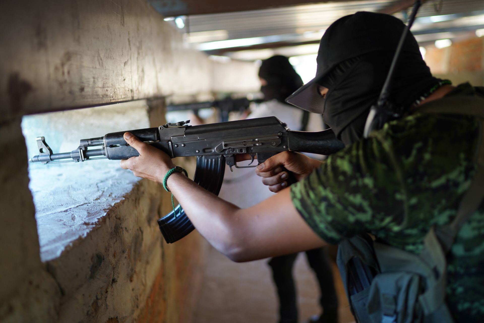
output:
[[[286,123],[276,117],[256,118],[224,123],[190,126],[185,122],[166,123],[157,128],[127,130],[140,140],[161,149],[171,158],[197,156],[194,182],[218,195],[224,179],[225,164],[238,166],[236,154],[250,154],[263,163],[269,157],[284,151],[329,155],[344,144],[334,137],[333,130],[320,132],[290,131]],[[69,153],[53,154],[44,137],[37,137],[39,154],[30,162],[43,164],[91,159],[127,159],[138,156],[136,149],[126,143],[127,131],[109,133],[104,137],[81,139],[79,147]],[[91,147],[99,147],[92,149]],[[178,205],[174,211],[158,220],[160,231],[167,243],[180,240],[195,229]]]

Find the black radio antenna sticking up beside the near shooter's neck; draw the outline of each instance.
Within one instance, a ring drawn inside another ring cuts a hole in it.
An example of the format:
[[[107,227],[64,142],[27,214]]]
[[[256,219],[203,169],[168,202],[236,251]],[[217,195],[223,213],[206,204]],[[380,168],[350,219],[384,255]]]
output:
[[[387,78],[385,83],[383,84],[383,88],[381,89],[380,96],[378,97],[378,101],[376,105],[373,105],[368,113],[368,118],[366,119],[366,123],[364,126],[363,137],[368,138],[368,135],[372,130],[381,129],[383,124],[400,118],[401,111],[396,109],[392,102],[390,102],[390,92],[392,90],[393,84],[393,74],[395,73],[395,68],[398,63],[398,59],[400,58],[400,53],[402,52],[403,44],[407,39],[408,31],[413,25],[415,21],[415,16],[422,5],[421,0],[415,1],[413,5],[412,13],[408,19],[408,25],[404,28],[402,37],[400,38],[400,42],[396,47],[395,56],[393,56],[392,64],[390,65],[390,69],[388,71]]]

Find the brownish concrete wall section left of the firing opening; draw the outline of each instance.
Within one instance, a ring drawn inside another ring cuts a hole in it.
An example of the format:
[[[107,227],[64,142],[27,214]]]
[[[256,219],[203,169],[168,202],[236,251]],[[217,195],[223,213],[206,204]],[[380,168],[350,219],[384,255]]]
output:
[[[40,261],[20,119],[0,120],[0,322],[55,322],[61,292]]]

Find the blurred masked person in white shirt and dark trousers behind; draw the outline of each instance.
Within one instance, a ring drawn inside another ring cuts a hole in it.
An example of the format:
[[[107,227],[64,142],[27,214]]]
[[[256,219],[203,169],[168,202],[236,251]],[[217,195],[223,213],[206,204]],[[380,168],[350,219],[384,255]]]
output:
[[[303,111],[288,105],[284,100],[302,86],[302,79],[285,56],[273,56],[264,60],[259,69],[260,91],[264,102],[258,105],[247,117],[262,118],[275,116],[287,123],[291,130],[321,131],[324,123],[318,114]],[[323,156],[312,154],[321,159]],[[246,165],[240,163],[241,165]],[[274,193],[257,180],[253,169],[226,169],[224,184],[219,196],[239,207],[250,207],[272,196]],[[319,304],[323,314],[312,318],[311,322],[337,322],[338,301],[333,283],[333,273],[329,259],[323,248],[305,252],[310,267],[316,274],[321,293]],[[274,257],[269,261],[272,278],[279,301],[279,322],[298,322],[297,295],[293,278],[294,261],[298,253]],[[321,320],[321,321],[318,321]]]

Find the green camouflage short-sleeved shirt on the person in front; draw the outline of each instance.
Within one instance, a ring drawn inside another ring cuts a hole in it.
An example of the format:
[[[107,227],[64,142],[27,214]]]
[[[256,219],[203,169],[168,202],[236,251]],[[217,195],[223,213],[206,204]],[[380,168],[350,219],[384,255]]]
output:
[[[448,95],[456,94],[484,97],[484,88],[463,84]],[[474,117],[417,110],[333,154],[291,186],[291,199],[328,243],[371,232],[419,254],[429,228],[455,217],[477,169],[478,137]],[[484,203],[459,231],[448,257],[447,304],[456,322],[484,319],[483,237]]]

